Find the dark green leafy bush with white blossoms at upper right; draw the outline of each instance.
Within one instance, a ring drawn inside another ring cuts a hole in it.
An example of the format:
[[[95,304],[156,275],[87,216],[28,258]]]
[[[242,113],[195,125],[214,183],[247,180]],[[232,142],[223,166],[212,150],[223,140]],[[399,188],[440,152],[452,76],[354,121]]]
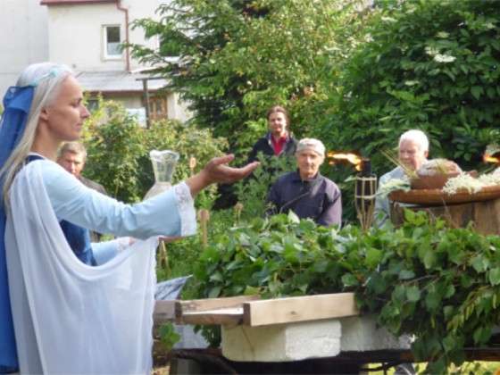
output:
[[[487,143],[498,139],[498,2],[384,2],[371,14],[321,137],[371,155],[382,173],[390,166],[379,150],[417,128],[431,138],[432,157],[477,168]]]

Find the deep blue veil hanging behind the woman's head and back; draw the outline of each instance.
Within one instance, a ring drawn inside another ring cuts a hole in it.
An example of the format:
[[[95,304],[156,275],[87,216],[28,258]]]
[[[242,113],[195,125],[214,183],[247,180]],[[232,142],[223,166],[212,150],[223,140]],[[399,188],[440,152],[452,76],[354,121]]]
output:
[[[0,121],[0,168],[18,146],[29,116],[35,86],[10,87],[4,96],[4,113]],[[4,189],[4,177],[0,177]],[[0,202],[0,373],[18,370],[17,350],[12,323],[7,264],[5,259],[5,208]]]

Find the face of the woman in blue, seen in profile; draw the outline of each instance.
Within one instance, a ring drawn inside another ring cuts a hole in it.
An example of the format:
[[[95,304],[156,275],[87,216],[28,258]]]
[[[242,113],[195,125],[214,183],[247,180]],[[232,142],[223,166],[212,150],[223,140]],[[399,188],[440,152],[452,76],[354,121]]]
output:
[[[46,130],[56,141],[79,139],[83,121],[90,113],[83,105],[83,95],[77,79],[72,76],[63,80],[54,101],[42,110],[40,118]]]

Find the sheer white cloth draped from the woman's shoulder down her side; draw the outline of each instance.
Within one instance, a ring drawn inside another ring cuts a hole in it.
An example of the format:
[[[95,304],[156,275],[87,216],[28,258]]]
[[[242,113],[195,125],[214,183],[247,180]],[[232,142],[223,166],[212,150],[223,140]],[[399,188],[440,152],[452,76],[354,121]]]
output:
[[[5,243],[21,373],[149,373],[155,237],[90,267],[72,253],[31,162],[11,189]]]

